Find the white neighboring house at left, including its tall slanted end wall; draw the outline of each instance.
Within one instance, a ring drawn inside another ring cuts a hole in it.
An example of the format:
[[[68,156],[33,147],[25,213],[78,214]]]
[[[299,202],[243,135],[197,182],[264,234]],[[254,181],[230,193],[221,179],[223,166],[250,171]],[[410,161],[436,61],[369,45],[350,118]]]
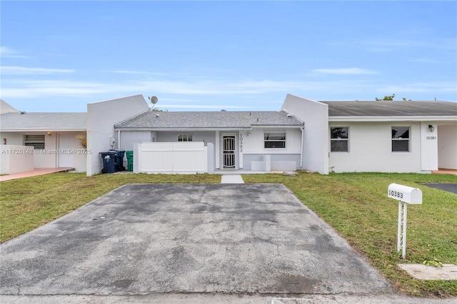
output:
[[[28,113],[1,101],[1,174],[34,168],[100,173],[99,152],[114,148],[114,122],[149,106],[137,95],[89,103],[87,108],[87,113]],[[76,136],[86,137],[87,148]]]

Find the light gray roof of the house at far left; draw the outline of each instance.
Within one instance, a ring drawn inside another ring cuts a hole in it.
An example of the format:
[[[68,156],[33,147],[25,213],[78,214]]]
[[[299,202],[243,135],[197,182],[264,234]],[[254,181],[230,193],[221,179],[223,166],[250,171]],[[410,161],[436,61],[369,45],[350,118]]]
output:
[[[82,131],[87,113],[4,113],[1,131]]]

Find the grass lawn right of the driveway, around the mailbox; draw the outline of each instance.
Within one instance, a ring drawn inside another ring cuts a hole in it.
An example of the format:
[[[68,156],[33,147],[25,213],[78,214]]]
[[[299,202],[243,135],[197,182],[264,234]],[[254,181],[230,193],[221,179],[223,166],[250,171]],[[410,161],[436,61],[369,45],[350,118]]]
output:
[[[321,176],[243,176],[246,183],[283,183],[318,216],[366,256],[403,293],[457,295],[457,281],[411,278],[397,263],[438,259],[457,264],[457,195],[421,183],[457,183],[457,176],[344,173]],[[408,206],[406,260],[396,252],[398,202],[387,198],[390,183],[420,188],[423,204]]]

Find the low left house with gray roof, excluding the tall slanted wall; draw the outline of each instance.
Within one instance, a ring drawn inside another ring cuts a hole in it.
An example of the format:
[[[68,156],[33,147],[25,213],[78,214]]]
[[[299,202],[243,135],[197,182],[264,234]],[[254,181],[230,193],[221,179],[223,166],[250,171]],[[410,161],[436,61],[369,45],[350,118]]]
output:
[[[86,113],[28,113],[1,101],[1,173],[34,168],[84,172],[86,151],[78,135],[86,136]]]

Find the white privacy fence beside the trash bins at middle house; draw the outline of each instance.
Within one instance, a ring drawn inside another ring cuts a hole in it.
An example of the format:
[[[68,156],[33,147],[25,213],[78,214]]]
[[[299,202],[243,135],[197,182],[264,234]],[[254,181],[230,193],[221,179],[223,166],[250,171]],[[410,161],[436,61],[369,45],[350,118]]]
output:
[[[207,173],[211,148],[203,142],[136,143],[134,173]]]

